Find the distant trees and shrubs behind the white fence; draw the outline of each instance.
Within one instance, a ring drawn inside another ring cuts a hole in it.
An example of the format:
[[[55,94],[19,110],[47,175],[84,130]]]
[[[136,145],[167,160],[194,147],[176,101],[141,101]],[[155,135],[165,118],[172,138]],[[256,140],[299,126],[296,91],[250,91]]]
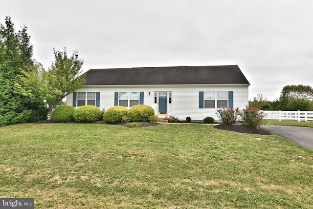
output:
[[[286,85],[283,87],[279,99],[268,101],[262,93],[257,94],[250,107],[262,110],[302,110],[313,111],[313,88],[310,85]]]

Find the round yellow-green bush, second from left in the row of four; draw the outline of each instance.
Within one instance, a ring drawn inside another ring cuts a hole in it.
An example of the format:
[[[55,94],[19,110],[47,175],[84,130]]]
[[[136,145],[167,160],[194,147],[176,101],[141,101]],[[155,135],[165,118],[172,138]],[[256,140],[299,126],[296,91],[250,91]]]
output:
[[[74,119],[77,122],[94,122],[101,119],[102,111],[93,105],[81,106],[74,112]]]

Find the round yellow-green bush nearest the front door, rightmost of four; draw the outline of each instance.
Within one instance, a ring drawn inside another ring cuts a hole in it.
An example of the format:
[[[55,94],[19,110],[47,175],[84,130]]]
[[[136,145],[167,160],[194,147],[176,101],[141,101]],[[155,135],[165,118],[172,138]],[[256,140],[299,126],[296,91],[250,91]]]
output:
[[[130,108],[127,115],[133,122],[149,122],[155,111],[151,106],[138,104]]]

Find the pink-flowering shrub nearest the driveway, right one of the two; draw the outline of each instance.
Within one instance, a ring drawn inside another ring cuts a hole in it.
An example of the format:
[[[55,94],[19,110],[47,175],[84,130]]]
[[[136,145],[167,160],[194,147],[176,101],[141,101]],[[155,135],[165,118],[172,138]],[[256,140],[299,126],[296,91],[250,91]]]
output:
[[[258,129],[262,125],[266,125],[264,112],[256,107],[247,107],[246,109],[243,109],[240,112],[240,116],[243,125],[246,127]]]

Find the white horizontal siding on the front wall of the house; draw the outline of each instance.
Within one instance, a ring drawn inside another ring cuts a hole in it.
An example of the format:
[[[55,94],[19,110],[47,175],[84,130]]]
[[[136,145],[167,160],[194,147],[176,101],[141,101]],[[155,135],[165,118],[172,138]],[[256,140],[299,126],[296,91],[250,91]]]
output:
[[[114,92],[121,91],[143,91],[144,104],[150,105],[157,114],[157,104],[154,103],[155,92],[172,92],[172,104],[168,104],[168,115],[175,115],[180,120],[185,120],[187,116],[191,120],[202,121],[205,117],[212,117],[218,120],[217,108],[199,108],[200,91],[233,91],[234,107],[240,109],[248,105],[248,86],[125,86],[125,87],[82,87],[77,91],[100,92],[100,109],[108,109],[114,106]],[[149,95],[150,92],[150,95]],[[73,104],[73,95],[67,96],[67,105]]]

